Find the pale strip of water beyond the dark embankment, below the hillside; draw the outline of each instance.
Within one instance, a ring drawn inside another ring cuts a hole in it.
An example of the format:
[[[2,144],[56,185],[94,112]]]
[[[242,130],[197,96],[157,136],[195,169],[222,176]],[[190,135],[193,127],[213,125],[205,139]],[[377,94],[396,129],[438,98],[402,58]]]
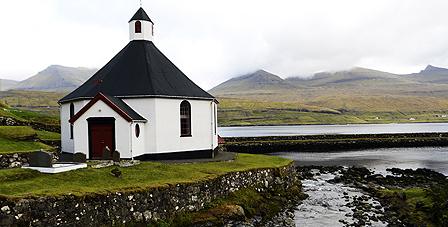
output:
[[[448,132],[448,123],[219,127],[222,137]]]

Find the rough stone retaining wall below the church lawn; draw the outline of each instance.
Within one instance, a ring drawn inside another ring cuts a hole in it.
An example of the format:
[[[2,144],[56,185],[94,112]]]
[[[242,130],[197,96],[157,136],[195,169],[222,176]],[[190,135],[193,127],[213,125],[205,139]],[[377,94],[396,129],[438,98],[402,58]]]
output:
[[[164,187],[87,196],[67,195],[0,198],[0,225],[98,226],[148,223],[198,211],[212,200],[241,188],[257,191],[300,184],[294,167],[234,172],[200,181]]]

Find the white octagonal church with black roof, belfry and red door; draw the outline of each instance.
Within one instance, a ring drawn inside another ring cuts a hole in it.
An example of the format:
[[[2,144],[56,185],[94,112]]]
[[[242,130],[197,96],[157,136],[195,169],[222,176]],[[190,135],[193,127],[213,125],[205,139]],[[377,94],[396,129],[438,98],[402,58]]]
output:
[[[59,100],[62,152],[101,159],[107,146],[125,159],[213,157],[218,102],[154,45],[153,28],[140,8],[130,42]]]

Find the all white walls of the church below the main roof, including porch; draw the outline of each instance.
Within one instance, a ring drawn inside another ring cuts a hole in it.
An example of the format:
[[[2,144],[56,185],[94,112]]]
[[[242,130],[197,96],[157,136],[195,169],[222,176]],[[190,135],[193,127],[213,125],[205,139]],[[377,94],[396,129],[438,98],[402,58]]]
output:
[[[123,158],[150,153],[209,150],[218,146],[218,136],[214,132],[214,112],[217,105],[211,100],[187,100],[191,105],[191,137],[180,136],[180,103],[184,99],[141,98],[124,99],[130,107],[146,118],[147,122],[124,120],[109,106],[98,101],[74,124],[74,140],[70,139],[70,104],[61,106],[61,138],[64,152],[89,154],[89,117],[114,117],[117,150]],[[75,103],[75,114],[87,103]],[[101,109],[101,112],[98,110]],[[65,122],[65,124],[64,124]],[[140,125],[140,136],[135,136],[135,125]],[[131,134],[132,133],[132,134]],[[132,145],[132,147],[131,147]]]

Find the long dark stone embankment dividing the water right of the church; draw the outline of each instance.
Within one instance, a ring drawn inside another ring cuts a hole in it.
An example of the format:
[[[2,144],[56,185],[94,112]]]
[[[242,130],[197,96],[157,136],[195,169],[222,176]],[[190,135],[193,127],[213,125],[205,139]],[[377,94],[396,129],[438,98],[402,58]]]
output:
[[[230,137],[224,146],[230,152],[253,154],[448,146],[448,133]]]

